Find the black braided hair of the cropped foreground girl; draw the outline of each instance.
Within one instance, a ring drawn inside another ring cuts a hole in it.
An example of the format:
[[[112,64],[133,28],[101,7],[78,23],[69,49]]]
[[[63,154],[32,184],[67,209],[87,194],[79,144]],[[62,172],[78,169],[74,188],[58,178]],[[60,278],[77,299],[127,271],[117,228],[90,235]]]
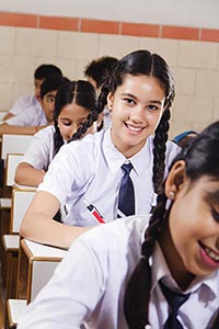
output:
[[[219,122],[208,126],[195,137],[174,159],[172,166],[185,161],[186,175],[194,183],[203,175],[219,181]],[[149,259],[154,250],[155,241],[163,220],[168,220],[170,208],[166,208],[164,182],[158,196],[158,205],[150,217],[149,227],[145,232],[141,259],[137,264],[126,288],[124,310],[129,329],[143,329],[149,325],[149,302],[151,291],[151,268]],[[219,328],[219,309],[214,315],[214,324],[209,329]]]

